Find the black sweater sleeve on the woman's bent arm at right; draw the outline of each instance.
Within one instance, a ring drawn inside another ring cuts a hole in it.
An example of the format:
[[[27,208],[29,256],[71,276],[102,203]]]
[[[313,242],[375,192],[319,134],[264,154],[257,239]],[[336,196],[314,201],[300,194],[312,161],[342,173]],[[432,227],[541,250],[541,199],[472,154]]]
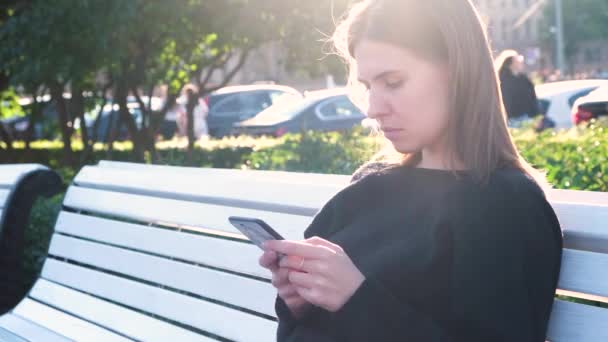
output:
[[[407,296],[395,291],[407,293],[407,284],[388,289],[367,278],[332,315],[344,340],[545,341],[561,257],[553,210],[509,187],[466,206],[442,247],[451,249],[445,313],[432,317],[400,300]]]

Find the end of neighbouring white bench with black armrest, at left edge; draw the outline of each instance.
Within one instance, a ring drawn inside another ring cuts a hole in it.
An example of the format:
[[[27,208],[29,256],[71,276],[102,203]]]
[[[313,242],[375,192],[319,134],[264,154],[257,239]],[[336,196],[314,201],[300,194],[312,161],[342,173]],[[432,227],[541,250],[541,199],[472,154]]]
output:
[[[23,238],[36,199],[61,191],[58,174],[38,164],[0,165],[0,313],[23,296]],[[51,228],[51,227],[49,227]]]

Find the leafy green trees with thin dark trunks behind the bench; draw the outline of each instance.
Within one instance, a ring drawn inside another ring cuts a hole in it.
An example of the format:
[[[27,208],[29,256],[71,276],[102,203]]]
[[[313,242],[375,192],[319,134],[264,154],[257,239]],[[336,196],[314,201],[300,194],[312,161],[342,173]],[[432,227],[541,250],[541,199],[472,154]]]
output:
[[[341,13],[347,2],[336,1],[340,5],[333,13]],[[105,103],[108,92],[118,104],[120,124],[130,133],[136,159],[143,160],[146,151],[154,153],[155,136],[185,84],[198,85],[187,106],[191,118],[193,102],[227,84],[249,51],[264,42],[288,46],[291,66],[326,70],[310,51],[322,55],[321,44],[314,42],[321,32],[331,31],[329,6],[295,0],[13,0],[0,22],[0,70],[8,84],[34,100],[51,94],[70,163],[75,119],[81,122],[87,150],[94,140],[84,124],[84,113],[93,103],[87,105],[84,94],[95,94]],[[228,63],[234,58],[236,66]],[[211,85],[217,70],[224,71],[223,80]],[[142,95],[151,97],[165,85],[164,106],[153,110]],[[69,102],[65,92],[72,94]],[[141,108],[140,124],[129,112],[129,95]],[[40,112],[40,104],[32,106],[32,125]],[[192,150],[192,127],[188,131]]]

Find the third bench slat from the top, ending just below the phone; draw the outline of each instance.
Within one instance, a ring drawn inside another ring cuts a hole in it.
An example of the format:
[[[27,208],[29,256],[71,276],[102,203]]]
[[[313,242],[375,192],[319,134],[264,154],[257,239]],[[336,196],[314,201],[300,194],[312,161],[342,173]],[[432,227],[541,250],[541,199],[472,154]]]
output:
[[[92,216],[61,212],[56,231],[261,278],[270,273],[258,264],[262,251],[246,242],[177,232]]]

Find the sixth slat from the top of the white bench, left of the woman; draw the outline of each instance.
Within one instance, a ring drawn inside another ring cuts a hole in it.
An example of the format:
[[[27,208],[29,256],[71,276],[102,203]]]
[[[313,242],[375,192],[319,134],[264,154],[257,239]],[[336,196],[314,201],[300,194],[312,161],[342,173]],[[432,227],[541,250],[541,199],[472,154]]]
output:
[[[119,289],[113,289],[113,291],[117,290],[120,291]],[[110,327],[122,335],[137,340],[213,341],[190,330],[45,279],[36,283],[31,296],[49,305],[59,307],[65,312],[82,317],[99,326]],[[82,336],[84,335],[80,335],[80,339],[82,339]]]

